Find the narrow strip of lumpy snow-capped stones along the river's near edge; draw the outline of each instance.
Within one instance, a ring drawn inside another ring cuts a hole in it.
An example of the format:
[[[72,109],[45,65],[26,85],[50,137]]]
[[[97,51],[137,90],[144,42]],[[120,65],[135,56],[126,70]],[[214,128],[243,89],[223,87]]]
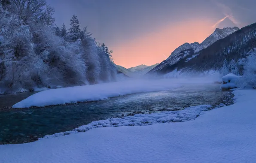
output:
[[[80,126],[72,131],[55,133],[53,135],[44,136],[40,139],[49,139],[58,136],[69,135],[72,133],[85,132],[97,127],[148,126],[152,124],[168,122],[185,122],[193,120],[199,115],[204,114],[204,111],[208,111],[211,107],[212,106],[210,105],[200,105],[191,106],[189,108],[178,111],[165,111],[152,114],[136,114],[134,116],[127,116],[123,118],[109,118],[106,120],[93,121],[90,124]]]

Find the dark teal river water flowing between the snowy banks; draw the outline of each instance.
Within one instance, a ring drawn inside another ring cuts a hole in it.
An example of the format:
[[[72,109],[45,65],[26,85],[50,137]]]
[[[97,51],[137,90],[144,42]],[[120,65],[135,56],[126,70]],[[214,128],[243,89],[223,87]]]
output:
[[[0,96],[0,106],[11,106],[31,93]],[[219,85],[180,87],[171,91],[131,94],[97,102],[45,108],[0,111],[0,144],[33,142],[40,137],[73,130],[111,117],[163,110],[180,110],[202,104],[218,105],[227,100]],[[230,104],[228,101],[226,104]]]

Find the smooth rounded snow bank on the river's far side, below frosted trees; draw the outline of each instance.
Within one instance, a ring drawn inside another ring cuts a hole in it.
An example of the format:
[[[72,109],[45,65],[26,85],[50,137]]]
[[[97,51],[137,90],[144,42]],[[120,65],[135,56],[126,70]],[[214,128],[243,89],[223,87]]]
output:
[[[157,79],[157,80],[128,80],[122,82],[101,83],[79,87],[59,88],[33,94],[27,99],[16,103],[13,108],[43,107],[67,103],[106,100],[126,94],[153,91],[166,91],[180,87],[184,83],[194,86],[198,83],[211,83],[200,78],[190,79]]]

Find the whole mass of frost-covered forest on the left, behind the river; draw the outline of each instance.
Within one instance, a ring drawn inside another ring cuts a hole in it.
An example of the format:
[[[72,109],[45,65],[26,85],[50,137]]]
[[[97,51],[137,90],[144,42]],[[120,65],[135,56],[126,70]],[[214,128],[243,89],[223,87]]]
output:
[[[46,0],[0,2],[0,92],[115,80],[112,51],[76,15],[57,27],[54,12]]]

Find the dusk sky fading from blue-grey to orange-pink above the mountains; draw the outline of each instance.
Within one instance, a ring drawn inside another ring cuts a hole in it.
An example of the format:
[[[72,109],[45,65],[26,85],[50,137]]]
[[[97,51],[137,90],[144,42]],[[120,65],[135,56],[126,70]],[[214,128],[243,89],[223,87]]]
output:
[[[256,22],[255,0],[47,0],[56,24],[77,15],[126,68],[167,59],[185,42],[201,43],[216,27]]]

